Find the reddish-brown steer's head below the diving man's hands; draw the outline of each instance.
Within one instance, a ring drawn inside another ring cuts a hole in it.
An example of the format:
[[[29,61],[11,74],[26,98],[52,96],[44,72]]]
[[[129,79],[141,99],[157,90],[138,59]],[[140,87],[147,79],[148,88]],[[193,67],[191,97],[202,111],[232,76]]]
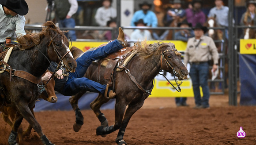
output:
[[[50,72],[50,71],[47,70],[46,72]],[[45,75],[45,73],[43,74],[43,76]],[[53,74],[53,72],[50,72],[50,73]],[[46,84],[46,82],[47,81],[43,81],[43,84]],[[58,100],[58,98],[57,98],[57,96],[55,94],[54,86],[55,86],[55,80],[54,80],[54,78],[52,78],[45,85],[45,91],[43,91],[42,94],[40,94],[39,97],[44,99],[45,101],[49,101],[51,103],[55,103]]]

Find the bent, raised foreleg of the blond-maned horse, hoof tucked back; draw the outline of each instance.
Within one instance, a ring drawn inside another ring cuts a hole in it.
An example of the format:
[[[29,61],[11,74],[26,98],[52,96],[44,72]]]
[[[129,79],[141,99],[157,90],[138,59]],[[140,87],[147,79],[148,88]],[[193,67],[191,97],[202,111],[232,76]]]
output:
[[[115,124],[109,127],[98,127],[96,130],[97,135],[110,134],[121,127],[121,123],[124,117],[124,111],[126,108],[125,101],[117,99],[115,106]]]

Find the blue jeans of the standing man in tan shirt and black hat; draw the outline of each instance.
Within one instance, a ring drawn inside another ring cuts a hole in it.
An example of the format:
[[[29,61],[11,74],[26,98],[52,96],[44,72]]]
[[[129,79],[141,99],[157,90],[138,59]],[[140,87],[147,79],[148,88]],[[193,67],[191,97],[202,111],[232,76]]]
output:
[[[201,64],[192,64],[189,72],[192,79],[194,97],[196,105],[209,107],[210,91],[208,86],[209,65],[207,62]],[[203,98],[200,94],[200,86],[203,91]]]

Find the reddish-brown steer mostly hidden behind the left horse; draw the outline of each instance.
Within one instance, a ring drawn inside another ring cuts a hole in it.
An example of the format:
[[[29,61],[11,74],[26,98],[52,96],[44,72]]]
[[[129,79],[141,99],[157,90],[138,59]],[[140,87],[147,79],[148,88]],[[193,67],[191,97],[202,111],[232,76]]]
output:
[[[46,72],[49,72],[49,70],[47,70]],[[45,73],[42,76],[44,76]],[[50,72],[50,73],[53,74],[53,72]],[[42,81],[43,84],[46,84],[46,82],[47,81]],[[42,98],[45,101],[49,101],[51,103],[55,103],[57,101],[57,96],[54,91],[54,85],[55,85],[55,80],[54,79],[49,80],[48,84],[45,85],[45,91],[43,91],[40,94],[39,98]],[[3,100],[0,100],[0,104],[3,104],[4,102],[1,102],[1,101],[3,101]],[[33,107],[33,109],[34,109],[34,107]],[[31,109],[31,112],[34,115],[33,109]],[[12,127],[12,124],[15,121],[15,116],[16,116],[16,112],[17,112],[16,108],[14,106],[5,106],[4,105],[0,108],[0,111],[2,112],[1,116],[3,117],[4,121]],[[10,120],[9,116],[11,117],[11,120]],[[31,130],[32,130],[32,127],[31,127],[31,125],[29,125],[27,127],[27,129],[23,132],[23,127],[22,127],[22,125],[20,125],[19,130],[18,130],[19,141],[22,141],[23,137],[29,136],[31,133]]]

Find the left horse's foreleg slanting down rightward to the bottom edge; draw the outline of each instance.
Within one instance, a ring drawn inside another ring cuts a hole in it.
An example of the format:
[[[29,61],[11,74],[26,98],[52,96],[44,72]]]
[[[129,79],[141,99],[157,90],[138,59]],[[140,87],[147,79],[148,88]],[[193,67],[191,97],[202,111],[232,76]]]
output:
[[[54,145],[51,141],[45,136],[43,133],[40,124],[35,119],[34,115],[32,114],[31,110],[28,108],[28,105],[23,102],[19,102],[19,104],[16,105],[16,107],[19,109],[19,112],[21,115],[26,119],[26,121],[33,127],[33,129],[38,133],[40,136],[42,142],[44,145]]]

